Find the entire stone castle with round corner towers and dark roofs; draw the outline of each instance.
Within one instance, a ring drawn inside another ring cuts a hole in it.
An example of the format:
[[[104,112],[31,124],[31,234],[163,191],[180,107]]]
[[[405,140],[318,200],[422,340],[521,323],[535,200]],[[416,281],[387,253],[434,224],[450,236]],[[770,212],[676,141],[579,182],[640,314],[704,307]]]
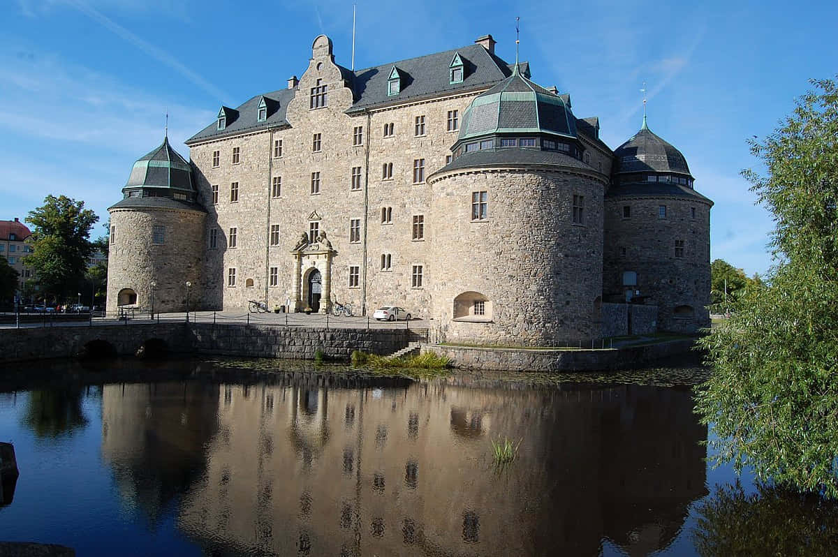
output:
[[[602,338],[603,303],[708,326],[712,202],[685,157],[645,117],[612,150],[494,45],[353,71],[321,35],[191,161],[164,140],[109,209],[107,309],[393,305],[448,341],[526,345]]]

